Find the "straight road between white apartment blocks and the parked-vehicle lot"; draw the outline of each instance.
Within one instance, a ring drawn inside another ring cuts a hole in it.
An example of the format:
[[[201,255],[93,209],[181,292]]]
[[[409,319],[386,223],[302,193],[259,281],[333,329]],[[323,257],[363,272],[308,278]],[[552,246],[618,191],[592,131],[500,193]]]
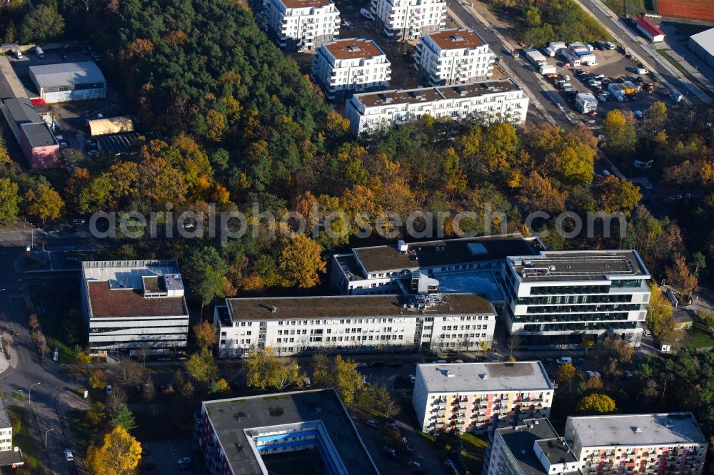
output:
[[[505,63],[511,68],[523,86],[531,92],[531,95],[538,99],[546,111],[553,116],[555,122],[560,126],[570,126],[571,123],[563,111],[556,104],[560,103],[560,96],[554,91],[543,91],[538,82],[538,75],[533,71],[533,66],[526,63],[521,58],[511,56],[511,48],[496,36],[493,26],[486,26],[473,15],[468,8],[461,4],[459,0],[446,0],[446,5],[451,12],[466,24],[468,28],[474,29],[491,45],[491,49],[497,56],[501,56],[501,63]]]

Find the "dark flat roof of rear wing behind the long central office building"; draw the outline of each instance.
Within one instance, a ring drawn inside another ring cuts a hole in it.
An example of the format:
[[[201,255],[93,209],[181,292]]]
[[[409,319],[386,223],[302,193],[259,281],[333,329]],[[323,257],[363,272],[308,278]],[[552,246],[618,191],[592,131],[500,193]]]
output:
[[[480,244],[481,246],[473,246]],[[416,270],[420,267],[453,265],[506,259],[509,255],[536,255],[536,242],[520,233],[489,237],[464,237],[409,243],[407,252],[396,246],[356,247],[356,257],[367,272]]]

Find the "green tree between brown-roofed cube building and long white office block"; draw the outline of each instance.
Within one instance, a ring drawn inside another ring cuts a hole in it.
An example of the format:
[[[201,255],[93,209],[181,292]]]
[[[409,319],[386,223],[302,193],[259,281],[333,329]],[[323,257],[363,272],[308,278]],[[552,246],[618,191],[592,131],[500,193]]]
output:
[[[183,268],[191,292],[201,299],[201,315],[203,315],[204,305],[211,302],[213,297],[224,296],[228,266],[215,247],[206,246],[191,251]]]

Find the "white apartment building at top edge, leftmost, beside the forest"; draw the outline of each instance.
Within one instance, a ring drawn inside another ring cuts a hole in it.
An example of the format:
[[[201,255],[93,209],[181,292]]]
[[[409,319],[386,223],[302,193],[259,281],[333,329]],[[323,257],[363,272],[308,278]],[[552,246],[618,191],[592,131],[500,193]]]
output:
[[[285,51],[310,51],[340,33],[332,0],[265,0],[268,31]]]

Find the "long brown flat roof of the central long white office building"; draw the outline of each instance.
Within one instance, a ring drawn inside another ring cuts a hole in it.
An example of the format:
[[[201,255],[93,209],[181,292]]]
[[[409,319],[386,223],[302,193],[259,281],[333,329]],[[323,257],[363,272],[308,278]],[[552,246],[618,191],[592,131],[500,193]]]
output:
[[[491,314],[493,306],[480,295],[450,294],[446,302],[426,308],[431,315]],[[421,315],[405,309],[411,300],[398,295],[336,295],[325,297],[253,297],[226,299],[235,320],[398,317]]]

